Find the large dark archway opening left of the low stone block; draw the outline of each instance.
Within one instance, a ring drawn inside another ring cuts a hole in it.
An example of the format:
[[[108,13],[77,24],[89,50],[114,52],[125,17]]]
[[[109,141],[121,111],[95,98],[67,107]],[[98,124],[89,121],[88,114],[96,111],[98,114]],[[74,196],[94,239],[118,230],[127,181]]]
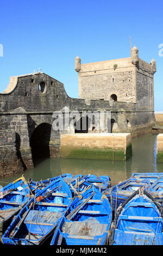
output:
[[[52,125],[42,123],[36,127],[30,139],[30,147],[34,166],[37,162],[50,157],[49,141],[51,140]]]

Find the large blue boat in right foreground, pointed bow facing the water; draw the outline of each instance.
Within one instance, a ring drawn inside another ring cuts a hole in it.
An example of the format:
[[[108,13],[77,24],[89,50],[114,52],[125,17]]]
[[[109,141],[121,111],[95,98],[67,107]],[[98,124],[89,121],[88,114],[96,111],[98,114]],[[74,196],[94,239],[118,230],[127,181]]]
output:
[[[122,204],[112,224],[110,245],[162,245],[162,207],[143,188]]]

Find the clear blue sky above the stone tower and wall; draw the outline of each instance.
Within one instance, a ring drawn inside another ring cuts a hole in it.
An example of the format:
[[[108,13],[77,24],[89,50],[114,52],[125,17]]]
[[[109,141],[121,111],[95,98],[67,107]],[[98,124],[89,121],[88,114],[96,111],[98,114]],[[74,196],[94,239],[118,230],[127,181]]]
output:
[[[64,83],[70,97],[78,97],[74,58],[82,63],[130,57],[156,60],[155,111],[163,111],[163,1],[1,0],[0,92],[9,77],[39,70]]]

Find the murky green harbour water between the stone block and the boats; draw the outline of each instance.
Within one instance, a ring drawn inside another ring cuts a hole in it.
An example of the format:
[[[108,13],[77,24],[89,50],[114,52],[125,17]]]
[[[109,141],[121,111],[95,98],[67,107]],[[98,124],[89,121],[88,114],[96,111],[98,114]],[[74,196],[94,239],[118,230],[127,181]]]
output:
[[[112,185],[130,178],[134,172],[163,172],[163,163],[156,163],[156,134],[149,133],[132,139],[133,156],[127,161],[80,160],[80,159],[46,159],[33,169],[24,172],[26,179],[51,178],[64,173],[109,175]],[[20,174],[0,179],[11,182]]]

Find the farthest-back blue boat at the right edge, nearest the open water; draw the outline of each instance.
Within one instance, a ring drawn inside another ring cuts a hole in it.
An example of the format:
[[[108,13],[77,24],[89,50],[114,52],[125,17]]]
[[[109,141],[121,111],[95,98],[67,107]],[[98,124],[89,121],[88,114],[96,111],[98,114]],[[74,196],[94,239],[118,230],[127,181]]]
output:
[[[151,184],[155,182],[157,179],[163,178],[163,173],[133,173],[131,178],[134,179],[147,179]]]

